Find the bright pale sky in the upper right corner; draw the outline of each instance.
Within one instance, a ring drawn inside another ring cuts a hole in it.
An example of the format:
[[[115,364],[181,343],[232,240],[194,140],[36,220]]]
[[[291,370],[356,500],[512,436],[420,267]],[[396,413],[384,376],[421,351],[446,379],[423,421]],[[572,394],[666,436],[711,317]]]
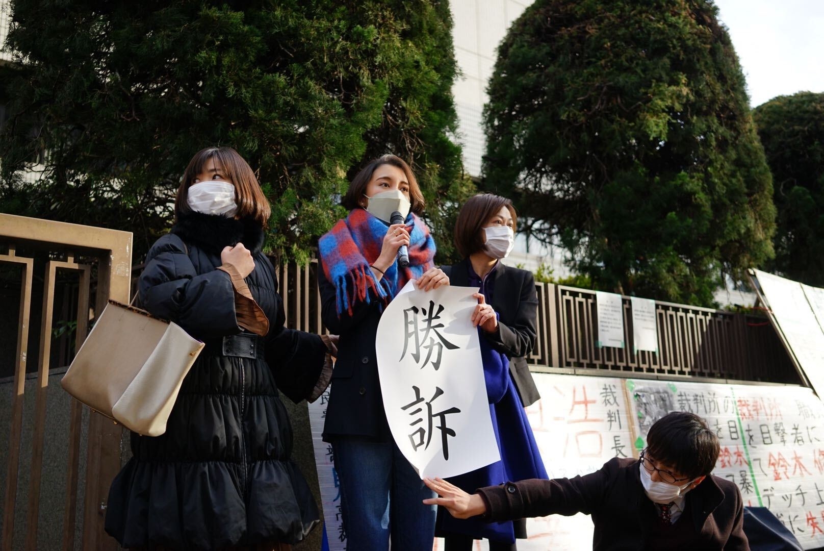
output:
[[[824,92],[824,0],[715,0],[747,77],[750,105]]]

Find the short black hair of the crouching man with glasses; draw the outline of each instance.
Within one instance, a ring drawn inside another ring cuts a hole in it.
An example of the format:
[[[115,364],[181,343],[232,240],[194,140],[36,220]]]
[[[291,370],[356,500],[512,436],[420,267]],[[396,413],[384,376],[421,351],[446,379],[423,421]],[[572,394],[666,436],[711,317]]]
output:
[[[672,412],[649,427],[647,450],[658,463],[698,478],[715,468],[721,445],[707,421],[695,413]]]

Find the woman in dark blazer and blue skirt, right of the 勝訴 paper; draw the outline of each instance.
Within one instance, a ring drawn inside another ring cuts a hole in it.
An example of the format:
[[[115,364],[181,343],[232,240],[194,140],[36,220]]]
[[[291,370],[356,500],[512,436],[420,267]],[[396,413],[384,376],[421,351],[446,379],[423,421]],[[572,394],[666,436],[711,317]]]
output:
[[[531,272],[500,261],[513,248],[517,222],[512,201],[498,195],[475,195],[461,208],[455,223],[455,245],[464,259],[442,266],[451,285],[478,287],[472,322],[479,327],[486,393],[501,460],[450,478],[463,489],[546,478],[541,453],[523,408],[540,396],[527,367],[535,343],[537,295]],[[515,551],[516,539],[527,537],[526,522],[487,524],[457,520],[438,511],[435,533],[446,551],[470,551],[474,539],[489,539],[491,551]]]

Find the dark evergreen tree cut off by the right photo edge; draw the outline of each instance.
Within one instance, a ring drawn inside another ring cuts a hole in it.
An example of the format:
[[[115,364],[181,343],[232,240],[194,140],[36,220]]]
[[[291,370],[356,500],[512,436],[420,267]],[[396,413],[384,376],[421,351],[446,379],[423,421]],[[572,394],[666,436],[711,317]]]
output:
[[[824,287],[824,93],[775,97],[753,117],[778,210],[772,267]]]

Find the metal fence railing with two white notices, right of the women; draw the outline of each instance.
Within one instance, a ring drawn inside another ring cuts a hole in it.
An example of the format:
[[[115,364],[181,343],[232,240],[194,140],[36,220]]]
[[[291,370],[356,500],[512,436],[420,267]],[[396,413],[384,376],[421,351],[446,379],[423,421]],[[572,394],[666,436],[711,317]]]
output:
[[[540,285],[540,284],[539,284]],[[555,367],[636,377],[689,376],[770,383],[800,383],[798,373],[766,318],[686,304],[656,302],[658,351],[635,351],[630,298],[624,297],[624,348],[595,346],[595,292],[560,285],[552,295],[558,330]]]

